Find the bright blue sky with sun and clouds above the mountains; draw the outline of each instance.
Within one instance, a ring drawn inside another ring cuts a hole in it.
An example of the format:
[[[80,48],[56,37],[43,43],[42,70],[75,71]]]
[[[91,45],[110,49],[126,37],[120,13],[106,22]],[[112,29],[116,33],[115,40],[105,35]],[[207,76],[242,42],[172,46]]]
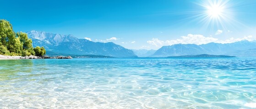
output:
[[[0,0],[0,19],[127,49],[256,40],[256,0]]]

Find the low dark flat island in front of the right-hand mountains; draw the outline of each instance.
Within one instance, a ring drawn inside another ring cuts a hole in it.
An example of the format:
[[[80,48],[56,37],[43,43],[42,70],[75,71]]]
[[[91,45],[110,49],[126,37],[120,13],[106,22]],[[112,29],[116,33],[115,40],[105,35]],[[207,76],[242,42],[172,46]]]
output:
[[[229,55],[199,54],[199,55],[168,56],[167,58],[234,58],[234,57],[235,56],[229,56]]]

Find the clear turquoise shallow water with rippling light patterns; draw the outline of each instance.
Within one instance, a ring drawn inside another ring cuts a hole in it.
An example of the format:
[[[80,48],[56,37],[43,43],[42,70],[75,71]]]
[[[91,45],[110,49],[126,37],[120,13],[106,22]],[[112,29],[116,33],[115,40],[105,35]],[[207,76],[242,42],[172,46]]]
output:
[[[253,109],[256,58],[0,60],[0,109]]]

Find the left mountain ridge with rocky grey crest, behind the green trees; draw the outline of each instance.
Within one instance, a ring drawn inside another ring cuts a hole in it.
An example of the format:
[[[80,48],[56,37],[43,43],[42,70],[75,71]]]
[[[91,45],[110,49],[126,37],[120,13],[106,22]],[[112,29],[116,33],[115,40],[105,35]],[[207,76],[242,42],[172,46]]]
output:
[[[60,35],[40,31],[27,32],[33,46],[44,46],[47,54],[105,55],[111,57],[137,57],[132,50],[113,42],[101,43],[78,39],[73,35]]]

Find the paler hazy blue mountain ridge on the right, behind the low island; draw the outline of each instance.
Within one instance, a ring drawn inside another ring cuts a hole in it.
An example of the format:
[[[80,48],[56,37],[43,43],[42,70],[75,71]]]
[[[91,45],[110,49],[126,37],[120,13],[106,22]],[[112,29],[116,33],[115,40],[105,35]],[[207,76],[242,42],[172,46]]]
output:
[[[239,57],[256,56],[256,41],[242,40],[234,43],[208,43],[203,45],[176,44],[163,46],[152,57],[168,57],[180,55],[234,55]]]

